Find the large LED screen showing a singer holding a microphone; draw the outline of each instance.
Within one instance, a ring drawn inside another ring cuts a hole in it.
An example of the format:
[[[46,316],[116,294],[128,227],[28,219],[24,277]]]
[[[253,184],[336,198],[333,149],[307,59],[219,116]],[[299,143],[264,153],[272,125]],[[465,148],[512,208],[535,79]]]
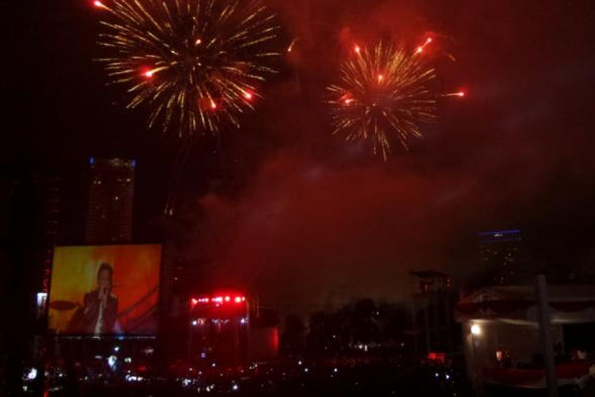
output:
[[[58,246],[48,326],[57,335],[155,335],[161,245]]]

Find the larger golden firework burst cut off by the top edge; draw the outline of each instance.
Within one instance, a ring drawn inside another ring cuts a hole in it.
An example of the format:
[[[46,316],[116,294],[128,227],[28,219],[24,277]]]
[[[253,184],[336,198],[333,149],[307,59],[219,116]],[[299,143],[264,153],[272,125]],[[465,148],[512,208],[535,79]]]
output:
[[[99,44],[111,82],[124,85],[127,107],[149,109],[149,126],[180,136],[239,126],[268,60],[278,27],[260,0],[104,0]]]

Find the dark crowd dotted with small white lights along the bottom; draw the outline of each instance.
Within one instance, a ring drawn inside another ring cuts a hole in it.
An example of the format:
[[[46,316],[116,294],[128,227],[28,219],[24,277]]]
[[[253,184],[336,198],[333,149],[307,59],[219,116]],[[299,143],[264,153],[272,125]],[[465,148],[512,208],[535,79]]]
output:
[[[464,376],[448,364],[414,363],[384,355],[287,357],[273,362],[224,367],[159,360],[109,351],[87,361],[58,360],[43,377],[28,368],[24,391],[43,387],[49,396],[434,396],[468,395]],[[43,382],[38,382],[43,379]]]

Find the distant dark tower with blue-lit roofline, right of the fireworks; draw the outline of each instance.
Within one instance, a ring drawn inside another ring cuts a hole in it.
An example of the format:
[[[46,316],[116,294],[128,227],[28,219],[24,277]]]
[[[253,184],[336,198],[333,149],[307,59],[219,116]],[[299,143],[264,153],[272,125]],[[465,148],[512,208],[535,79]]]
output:
[[[495,284],[510,284],[519,276],[521,230],[496,230],[478,235],[480,260]]]

